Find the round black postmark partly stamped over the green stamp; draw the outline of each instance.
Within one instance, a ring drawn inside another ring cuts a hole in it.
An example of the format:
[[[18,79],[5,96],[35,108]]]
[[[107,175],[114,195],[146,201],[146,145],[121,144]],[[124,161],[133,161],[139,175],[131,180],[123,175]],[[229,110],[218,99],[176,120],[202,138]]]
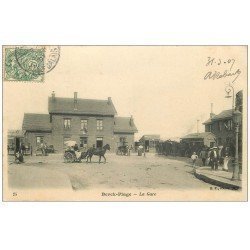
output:
[[[53,70],[60,58],[60,46],[15,47],[15,58],[19,67],[34,76]]]

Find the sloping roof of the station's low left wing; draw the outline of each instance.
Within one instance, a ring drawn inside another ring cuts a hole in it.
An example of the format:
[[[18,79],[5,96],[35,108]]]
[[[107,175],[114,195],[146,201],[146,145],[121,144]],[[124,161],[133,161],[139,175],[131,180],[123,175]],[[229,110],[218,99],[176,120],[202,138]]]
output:
[[[50,116],[48,114],[24,114],[23,130],[51,131]]]

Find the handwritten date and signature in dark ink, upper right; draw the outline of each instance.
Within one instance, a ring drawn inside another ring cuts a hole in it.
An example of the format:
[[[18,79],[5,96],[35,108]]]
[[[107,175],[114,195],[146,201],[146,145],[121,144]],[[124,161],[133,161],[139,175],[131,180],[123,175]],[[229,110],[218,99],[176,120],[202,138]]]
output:
[[[208,57],[206,67],[216,67],[216,69],[209,70],[205,74],[204,80],[231,78],[232,83],[234,83],[241,74],[241,70],[239,68],[234,68],[235,62],[236,60],[234,58],[221,59],[215,57]]]

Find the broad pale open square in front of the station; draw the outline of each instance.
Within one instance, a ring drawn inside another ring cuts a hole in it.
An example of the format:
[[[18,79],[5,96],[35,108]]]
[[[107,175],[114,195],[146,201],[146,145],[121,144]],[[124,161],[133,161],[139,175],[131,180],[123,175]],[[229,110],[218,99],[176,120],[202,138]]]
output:
[[[107,154],[107,163],[64,163],[61,154],[26,156],[24,164],[9,162],[9,184],[13,187],[208,189],[211,184],[197,179],[189,160]]]

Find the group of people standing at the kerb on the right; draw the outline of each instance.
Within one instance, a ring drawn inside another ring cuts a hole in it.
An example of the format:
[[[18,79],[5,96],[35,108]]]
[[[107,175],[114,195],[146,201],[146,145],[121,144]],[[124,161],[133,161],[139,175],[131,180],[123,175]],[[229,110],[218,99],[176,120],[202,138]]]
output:
[[[203,147],[198,156],[196,152],[191,155],[193,168],[196,168],[196,162],[198,158],[202,160],[203,166],[210,166],[212,170],[217,171],[219,165],[222,165],[223,171],[228,171],[228,162],[232,156],[232,152],[229,146],[223,147]]]

